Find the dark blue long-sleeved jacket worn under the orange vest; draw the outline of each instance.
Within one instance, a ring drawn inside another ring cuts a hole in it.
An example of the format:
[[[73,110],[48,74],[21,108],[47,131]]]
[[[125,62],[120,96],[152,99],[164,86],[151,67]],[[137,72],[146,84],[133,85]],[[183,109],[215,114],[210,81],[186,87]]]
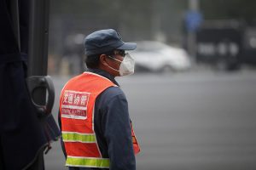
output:
[[[119,86],[108,72],[97,69],[89,71],[107,77]],[[107,88],[96,98],[94,116],[97,143],[102,157],[109,157],[110,169],[135,170],[128,103],[121,88]],[[59,124],[61,127],[60,116]],[[88,167],[70,167],[70,169],[102,170],[102,168]]]

